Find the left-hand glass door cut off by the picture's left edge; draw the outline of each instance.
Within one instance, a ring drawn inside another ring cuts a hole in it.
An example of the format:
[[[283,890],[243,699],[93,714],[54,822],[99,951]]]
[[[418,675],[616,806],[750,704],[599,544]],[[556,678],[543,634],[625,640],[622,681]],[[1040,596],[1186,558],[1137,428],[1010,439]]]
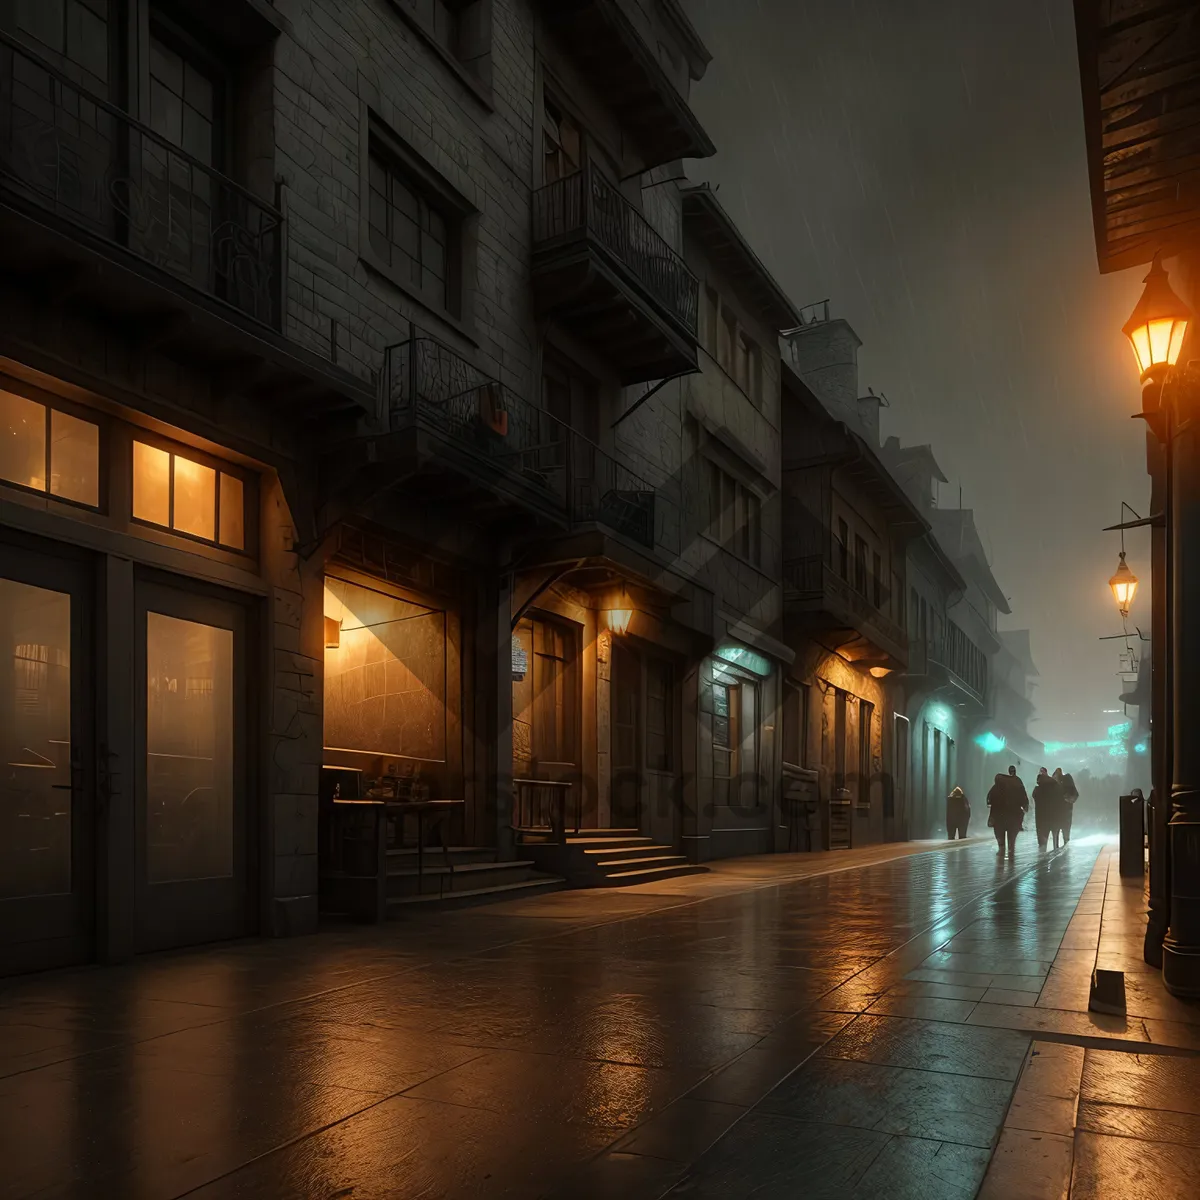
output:
[[[95,929],[90,574],[0,539],[0,973],[85,961]]]

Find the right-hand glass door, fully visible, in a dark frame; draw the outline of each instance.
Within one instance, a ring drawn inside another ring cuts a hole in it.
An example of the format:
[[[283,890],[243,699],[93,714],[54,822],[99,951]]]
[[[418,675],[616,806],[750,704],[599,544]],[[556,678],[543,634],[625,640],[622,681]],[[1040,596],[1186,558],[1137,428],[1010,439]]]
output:
[[[250,932],[246,611],[138,590],[138,949]]]

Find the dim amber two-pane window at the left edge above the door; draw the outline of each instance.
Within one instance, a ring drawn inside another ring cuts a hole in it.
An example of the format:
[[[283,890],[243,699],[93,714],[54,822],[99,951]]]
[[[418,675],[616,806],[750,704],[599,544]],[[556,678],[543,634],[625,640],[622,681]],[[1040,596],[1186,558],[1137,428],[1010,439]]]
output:
[[[0,391],[0,479],[100,506],[100,426]]]

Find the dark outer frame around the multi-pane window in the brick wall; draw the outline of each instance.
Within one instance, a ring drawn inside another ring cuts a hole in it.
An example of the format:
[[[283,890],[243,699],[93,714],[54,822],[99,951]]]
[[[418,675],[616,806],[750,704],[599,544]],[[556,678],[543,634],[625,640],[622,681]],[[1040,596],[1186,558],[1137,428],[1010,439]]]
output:
[[[359,259],[408,299],[474,341],[470,328],[470,280],[475,268],[478,211],[450,182],[434,172],[379,115],[362,106],[359,139]],[[371,169],[379,160],[419,200],[437,211],[446,228],[445,305],[388,262],[374,246],[371,224]]]

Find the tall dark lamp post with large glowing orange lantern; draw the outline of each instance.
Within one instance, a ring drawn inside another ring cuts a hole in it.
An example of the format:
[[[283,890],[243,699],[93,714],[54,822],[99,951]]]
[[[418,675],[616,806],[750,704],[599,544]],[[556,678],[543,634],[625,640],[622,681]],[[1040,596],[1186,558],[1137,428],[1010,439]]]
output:
[[[1141,374],[1138,415],[1162,443],[1166,467],[1171,757],[1163,983],[1172,995],[1200,996],[1200,731],[1194,728],[1200,720],[1200,623],[1188,620],[1200,613],[1200,377],[1178,367],[1192,312],[1171,289],[1157,256],[1145,282],[1123,331]]]

